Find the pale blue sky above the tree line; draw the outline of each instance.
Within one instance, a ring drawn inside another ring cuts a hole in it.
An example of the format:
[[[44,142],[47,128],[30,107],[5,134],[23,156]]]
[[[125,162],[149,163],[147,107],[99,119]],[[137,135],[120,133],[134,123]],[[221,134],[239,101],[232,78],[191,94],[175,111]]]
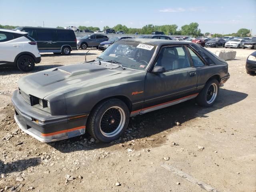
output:
[[[201,32],[256,34],[256,0],[0,0],[0,24],[13,26],[103,26],[197,22]]]

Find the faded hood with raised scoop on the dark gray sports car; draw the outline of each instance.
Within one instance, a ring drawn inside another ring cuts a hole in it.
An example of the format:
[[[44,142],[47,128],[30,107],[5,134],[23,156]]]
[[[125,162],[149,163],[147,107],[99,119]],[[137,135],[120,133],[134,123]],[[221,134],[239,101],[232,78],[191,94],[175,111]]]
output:
[[[65,94],[96,84],[114,84],[115,80],[120,83],[127,76],[144,72],[122,70],[117,65],[109,69],[92,63],[61,66],[24,76],[19,79],[18,87],[26,94],[43,99],[56,92]]]

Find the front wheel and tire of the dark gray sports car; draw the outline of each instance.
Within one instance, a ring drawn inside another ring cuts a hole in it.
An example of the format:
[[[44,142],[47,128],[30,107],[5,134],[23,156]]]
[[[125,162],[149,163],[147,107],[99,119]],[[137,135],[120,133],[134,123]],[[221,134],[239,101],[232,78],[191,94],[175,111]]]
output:
[[[124,133],[129,117],[130,111],[124,102],[115,98],[109,99],[101,102],[92,110],[86,129],[99,141],[112,142]]]

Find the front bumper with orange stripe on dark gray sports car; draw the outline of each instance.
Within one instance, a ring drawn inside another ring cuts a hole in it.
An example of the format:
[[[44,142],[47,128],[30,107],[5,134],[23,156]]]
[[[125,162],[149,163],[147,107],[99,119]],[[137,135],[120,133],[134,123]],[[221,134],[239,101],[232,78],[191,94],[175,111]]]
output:
[[[54,142],[85,133],[87,114],[52,116],[30,106],[18,90],[13,93],[12,103],[15,108],[14,119],[20,129],[41,142]]]

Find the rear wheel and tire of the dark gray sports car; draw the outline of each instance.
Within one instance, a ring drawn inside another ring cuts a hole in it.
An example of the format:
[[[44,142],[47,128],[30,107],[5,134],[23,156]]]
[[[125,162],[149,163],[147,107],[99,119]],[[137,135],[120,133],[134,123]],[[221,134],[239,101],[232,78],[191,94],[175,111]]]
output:
[[[209,80],[196,97],[196,102],[204,107],[210,107],[216,101],[220,90],[219,82],[216,79]]]

